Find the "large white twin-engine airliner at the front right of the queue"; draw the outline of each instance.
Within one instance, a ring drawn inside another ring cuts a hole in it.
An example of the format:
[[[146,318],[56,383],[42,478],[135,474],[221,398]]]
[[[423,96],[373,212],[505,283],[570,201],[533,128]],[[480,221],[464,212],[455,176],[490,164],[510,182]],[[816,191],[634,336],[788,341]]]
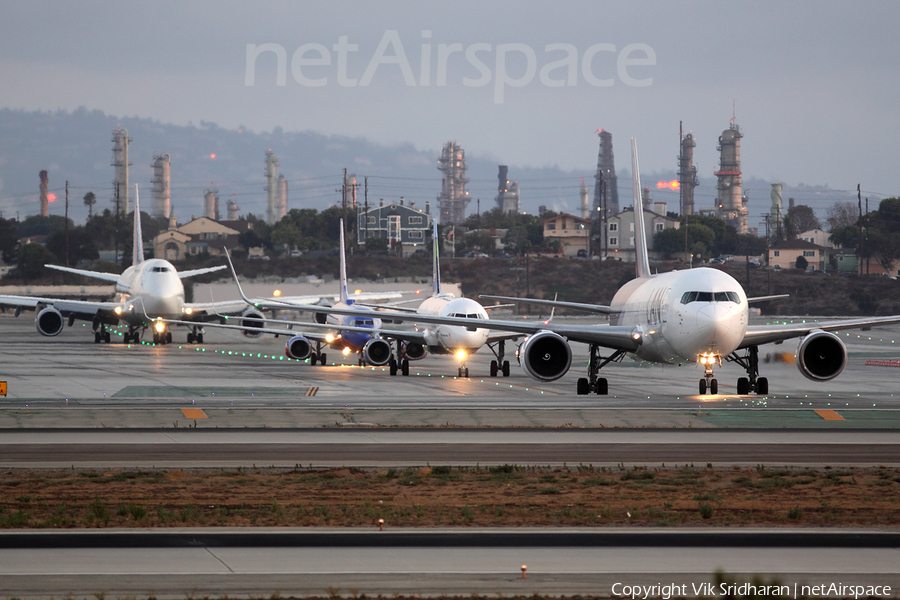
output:
[[[800,338],[796,354],[800,372],[813,381],[837,377],[847,364],[847,349],[832,333],[843,329],[870,328],[900,323],[900,316],[863,318],[800,325],[749,325],[750,302],[733,277],[711,268],[650,272],[644,217],[641,210],[640,170],[637,145],[632,139],[632,170],[635,210],[636,278],[616,292],[610,306],[516,299],[531,304],[579,308],[608,315],[609,324],[518,323],[490,321],[490,328],[527,334],[519,347],[525,371],[540,381],[554,381],[572,364],[571,342],[588,344],[587,377],[578,379],[579,394],[608,393],[608,382],[599,377],[601,368],[632,354],[659,363],[693,362],[703,365],[699,392],[718,393],[714,369],[725,361],[743,367],[746,377],[737,381],[737,393],[768,394],[769,382],[759,376],[759,346]],[[403,313],[381,313],[385,320],[443,325],[463,325],[470,330],[484,327],[481,319]],[[604,352],[606,351],[606,352]],[[604,355],[605,354],[605,355]]]

